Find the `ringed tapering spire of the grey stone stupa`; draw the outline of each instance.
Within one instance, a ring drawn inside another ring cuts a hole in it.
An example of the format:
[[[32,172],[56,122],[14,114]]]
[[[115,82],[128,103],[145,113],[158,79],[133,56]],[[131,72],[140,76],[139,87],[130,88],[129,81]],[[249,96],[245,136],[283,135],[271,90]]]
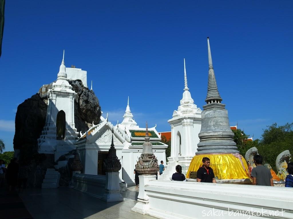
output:
[[[208,57],[209,57],[209,77],[208,77],[208,84],[207,84],[207,98],[205,99],[205,102],[207,104],[221,103],[222,98],[219,94],[217,81],[215,77],[211,48],[209,46],[209,37],[207,37],[207,49],[208,49]]]

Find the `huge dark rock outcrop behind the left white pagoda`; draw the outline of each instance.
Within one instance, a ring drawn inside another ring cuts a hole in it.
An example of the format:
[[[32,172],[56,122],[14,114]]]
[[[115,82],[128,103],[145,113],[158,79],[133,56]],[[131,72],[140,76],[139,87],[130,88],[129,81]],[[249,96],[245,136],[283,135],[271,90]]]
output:
[[[52,84],[43,85],[39,92],[17,107],[15,117],[14,149],[20,149],[20,159],[31,161],[29,185],[40,187],[47,168],[53,168],[53,154],[38,154],[38,142],[47,115],[48,89]],[[84,87],[80,80],[69,81],[77,93],[74,101],[74,120],[78,132],[86,132],[91,124],[100,122],[99,100],[93,91]],[[67,172],[67,170],[60,170]],[[62,177],[62,176],[61,176]],[[66,182],[68,180],[65,180]],[[64,185],[67,183],[64,183]]]

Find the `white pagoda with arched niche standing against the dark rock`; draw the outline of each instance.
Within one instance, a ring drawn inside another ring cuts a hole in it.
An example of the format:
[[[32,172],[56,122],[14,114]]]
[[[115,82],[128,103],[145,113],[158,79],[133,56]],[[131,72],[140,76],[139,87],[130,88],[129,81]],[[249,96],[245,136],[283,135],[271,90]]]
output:
[[[74,96],[76,93],[67,81],[63,59],[57,81],[48,90],[46,124],[38,139],[39,153],[55,154],[57,160],[62,154],[75,149],[77,130],[74,124]]]

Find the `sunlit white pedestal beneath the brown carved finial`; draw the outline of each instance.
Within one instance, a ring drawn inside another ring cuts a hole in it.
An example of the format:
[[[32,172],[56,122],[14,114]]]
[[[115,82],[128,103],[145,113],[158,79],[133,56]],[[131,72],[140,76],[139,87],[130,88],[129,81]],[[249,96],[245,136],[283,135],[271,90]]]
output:
[[[156,175],[140,175],[139,178],[139,193],[137,197],[136,205],[131,208],[132,211],[146,214],[147,209],[149,208],[149,197],[147,196],[146,191],[144,190],[144,186],[150,180],[156,180]]]

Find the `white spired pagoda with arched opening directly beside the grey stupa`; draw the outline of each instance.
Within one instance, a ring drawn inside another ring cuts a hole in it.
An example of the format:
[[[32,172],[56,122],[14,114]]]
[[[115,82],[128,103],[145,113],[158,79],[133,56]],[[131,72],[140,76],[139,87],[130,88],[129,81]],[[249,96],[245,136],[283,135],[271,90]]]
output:
[[[198,133],[201,128],[201,112],[202,110],[194,104],[187,85],[187,75],[184,59],[184,92],[180,105],[173,112],[173,118],[168,120],[171,125],[171,156],[168,157],[168,165],[166,170],[159,178],[169,179],[170,174],[175,173],[177,164],[186,171],[190,165],[190,161],[195,156],[197,144],[200,139]]]

